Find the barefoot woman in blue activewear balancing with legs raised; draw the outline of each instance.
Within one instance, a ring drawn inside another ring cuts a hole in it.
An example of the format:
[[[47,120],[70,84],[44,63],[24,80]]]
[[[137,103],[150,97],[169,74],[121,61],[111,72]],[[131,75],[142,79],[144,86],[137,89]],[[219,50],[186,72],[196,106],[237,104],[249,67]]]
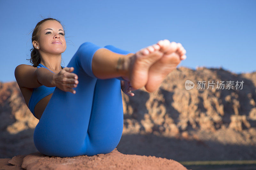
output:
[[[115,149],[123,131],[120,88],[130,96],[134,95],[131,90],[143,86],[154,92],[186,58],[181,44],[168,40],[135,54],[85,42],[63,68],[65,33],[53,18],[37,23],[32,44],[30,62],[34,65],[18,65],[15,78],[28,108],[39,119],[34,131],[36,148],[58,157],[92,156]]]

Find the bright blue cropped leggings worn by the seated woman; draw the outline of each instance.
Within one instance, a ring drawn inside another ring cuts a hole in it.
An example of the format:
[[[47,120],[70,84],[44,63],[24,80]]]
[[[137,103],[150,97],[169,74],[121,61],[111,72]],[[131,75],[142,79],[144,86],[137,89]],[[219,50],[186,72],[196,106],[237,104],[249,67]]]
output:
[[[78,76],[76,94],[55,88],[34,131],[37,150],[48,156],[93,156],[113,151],[123,132],[121,78],[98,79],[92,57],[102,47],[83,43],[67,67]],[[118,54],[131,52],[105,46]]]

